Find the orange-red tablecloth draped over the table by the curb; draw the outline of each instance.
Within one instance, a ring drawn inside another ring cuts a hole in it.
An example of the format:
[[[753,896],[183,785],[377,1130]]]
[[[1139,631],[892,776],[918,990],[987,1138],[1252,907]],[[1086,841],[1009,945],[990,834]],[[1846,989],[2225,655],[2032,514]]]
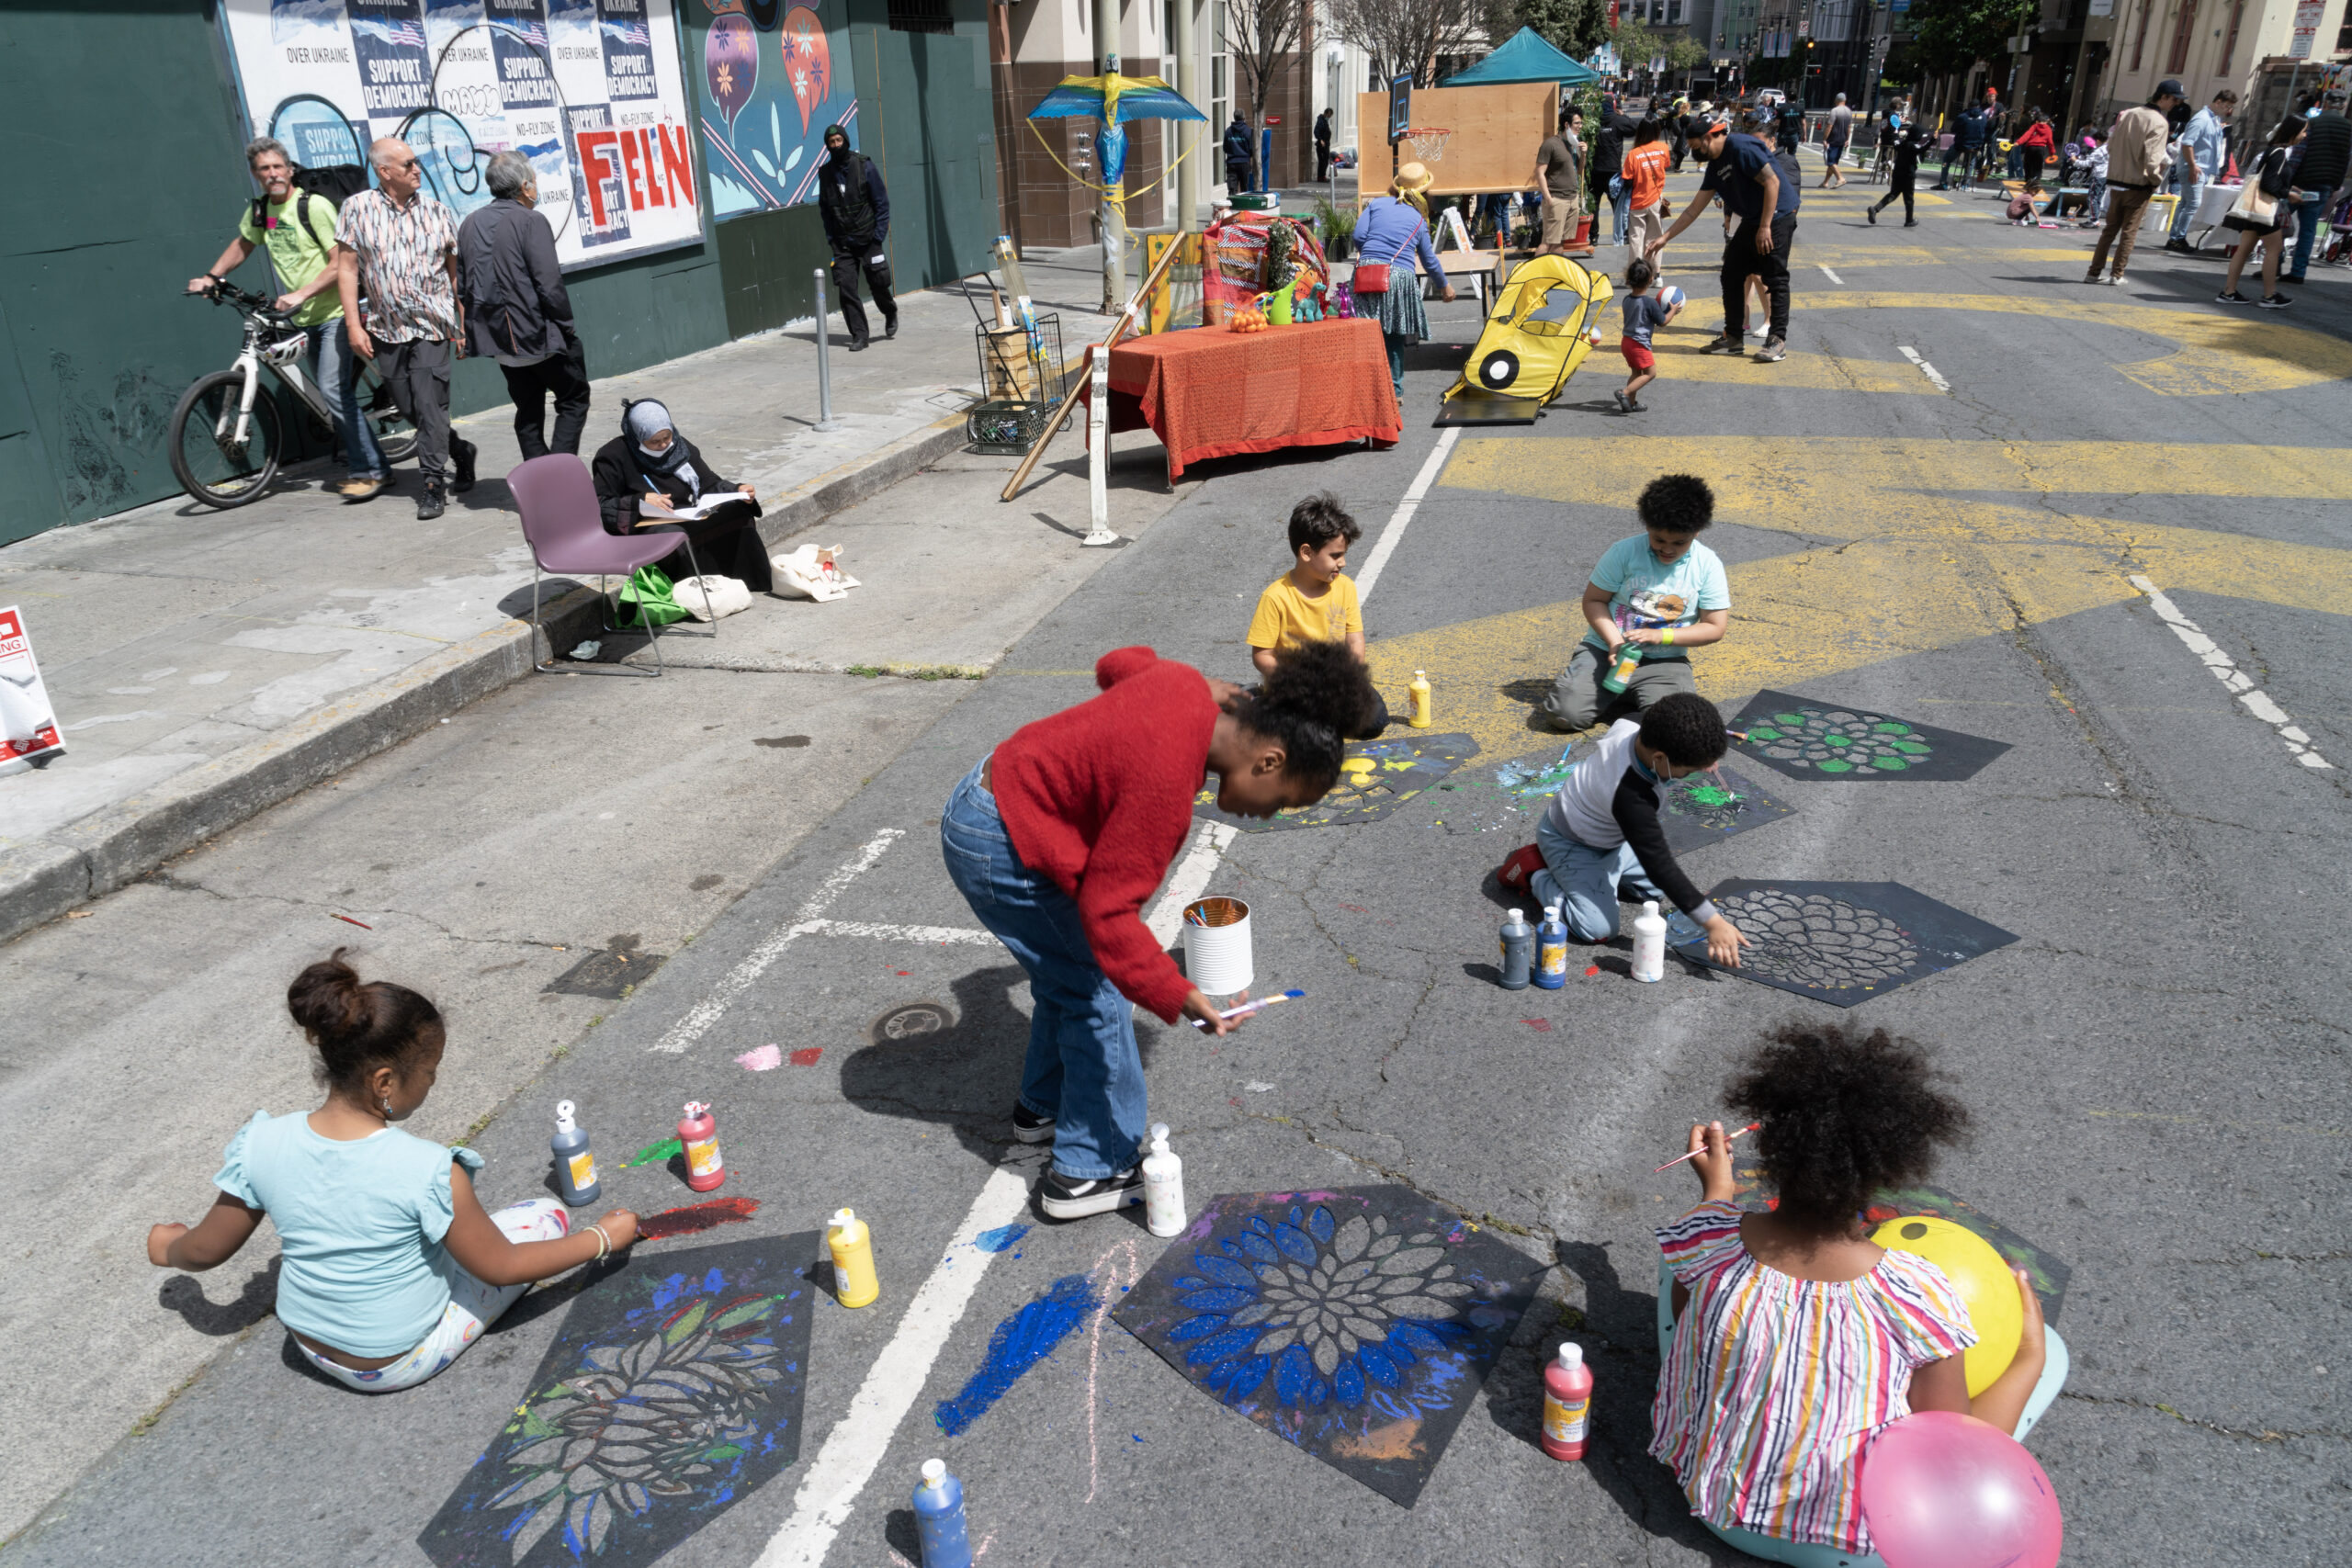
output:
[[[1080,397],[1089,390],[1080,381]],[[1152,430],[1174,484],[1185,463],[1237,451],[1392,447],[1404,416],[1381,324],[1345,320],[1129,339],[1110,350],[1110,428]]]

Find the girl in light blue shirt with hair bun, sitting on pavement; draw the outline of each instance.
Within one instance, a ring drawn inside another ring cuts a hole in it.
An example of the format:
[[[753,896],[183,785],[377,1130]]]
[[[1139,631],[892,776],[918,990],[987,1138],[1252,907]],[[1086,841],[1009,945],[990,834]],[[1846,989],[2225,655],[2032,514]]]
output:
[[[202,1272],[228,1262],[261,1215],[278,1227],[278,1319],[327,1378],[388,1394],[456,1361],[534,1279],[616,1253],[637,1215],[614,1208],[572,1234],[555,1199],[485,1213],[482,1157],[395,1128],[440,1072],[440,1011],[405,985],[360,983],[343,950],[303,969],[287,1011],[318,1048],[327,1103],[308,1117],[254,1119],[228,1140],[212,1213],[158,1225],[148,1262]]]

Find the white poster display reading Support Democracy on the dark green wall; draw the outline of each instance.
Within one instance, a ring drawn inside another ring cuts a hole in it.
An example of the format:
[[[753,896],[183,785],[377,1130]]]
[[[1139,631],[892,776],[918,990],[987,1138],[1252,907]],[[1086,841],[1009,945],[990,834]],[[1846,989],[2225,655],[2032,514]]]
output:
[[[223,24],[254,134],[296,165],[367,162],[372,141],[400,136],[463,219],[489,205],[492,155],[520,150],[569,270],[703,237],[670,7],[226,0]]]

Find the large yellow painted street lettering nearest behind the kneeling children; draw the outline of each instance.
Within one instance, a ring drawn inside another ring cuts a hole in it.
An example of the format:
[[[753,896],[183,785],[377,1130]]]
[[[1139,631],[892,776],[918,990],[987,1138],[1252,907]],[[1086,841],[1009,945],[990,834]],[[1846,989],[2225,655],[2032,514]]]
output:
[[[1905,654],[2009,635],[2159,588],[2352,614],[2352,550],[2067,512],[2060,496],[2352,501],[2333,449],[1882,437],[1465,440],[1439,484],[1628,510],[1661,473],[1703,473],[1717,517],[1844,541],[1731,567],[1731,635],[1693,658],[1736,703]],[[1987,501],[1983,496],[1999,496]],[[1494,757],[1557,745],[1529,724],[1585,623],[1576,599],[1371,644],[1383,686],[1428,670],[1442,729]]]

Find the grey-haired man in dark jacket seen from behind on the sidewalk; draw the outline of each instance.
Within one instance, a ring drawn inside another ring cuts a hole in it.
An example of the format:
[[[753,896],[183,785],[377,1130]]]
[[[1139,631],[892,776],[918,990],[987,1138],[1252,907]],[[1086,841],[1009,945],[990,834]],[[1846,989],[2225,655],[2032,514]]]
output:
[[[579,456],[588,423],[588,362],[572,329],[572,296],[555,266],[555,228],[539,207],[539,174],[506,150],[485,172],[492,202],[456,230],[459,294],[466,301],[466,353],[496,360],[515,400],[522,456]],[[548,440],[548,397],[555,437]]]

